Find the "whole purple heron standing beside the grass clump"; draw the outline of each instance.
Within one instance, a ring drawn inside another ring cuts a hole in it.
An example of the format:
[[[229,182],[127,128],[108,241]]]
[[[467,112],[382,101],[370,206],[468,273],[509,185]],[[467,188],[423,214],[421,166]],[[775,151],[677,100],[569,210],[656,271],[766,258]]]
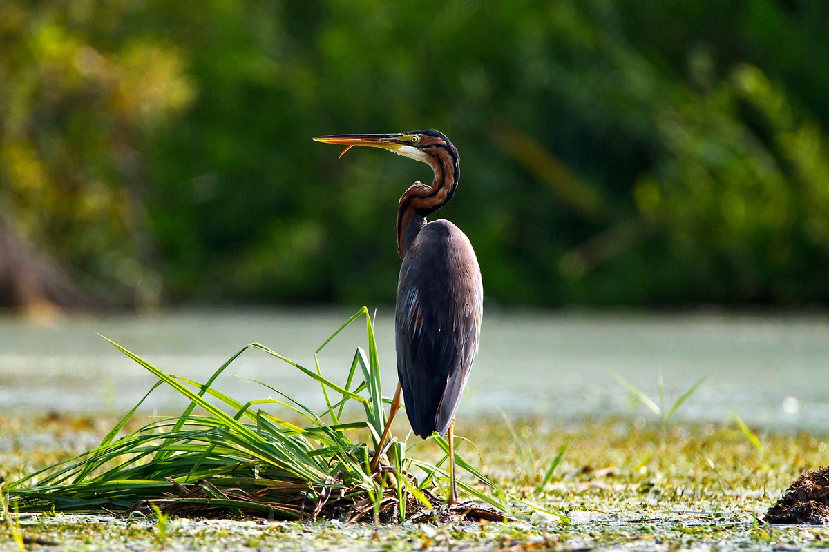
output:
[[[434,432],[440,436],[448,432],[452,482],[448,503],[455,504],[455,412],[478,352],[483,286],[466,235],[448,220],[427,223],[426,217],[447,204],[458,188],[458,150],[434,130],[337,134],[314,140],[348,146],[343,153],[351,146],[380,147],[434,170],[432,184],[415,182],[400,196],[397,209],[397,252],[402,261],[395,311],[399,383],[371,469],[376,471],[402,391],[414,434],[426,439]]]

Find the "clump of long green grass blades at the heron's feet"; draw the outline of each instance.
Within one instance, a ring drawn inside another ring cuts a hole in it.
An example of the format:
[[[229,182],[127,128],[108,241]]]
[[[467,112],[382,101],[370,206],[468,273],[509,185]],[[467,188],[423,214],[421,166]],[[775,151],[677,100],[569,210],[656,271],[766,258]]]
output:
[[[357,348],[346,381],[339,385],[322,372],[317,354],[357,319],[365,317],[367,353]],[[112,342],[110,342],[112,343]],[[112,343],[158,377],[147,395],[130,410],[100,444],[85,453],[41,469],[7,485],[18,511],[141,511],[147,515],[253,515],[302,520],[318,516],[344,521],[405,521],[467,515],[503,519],[507,504],[458,481],[462,492],[497,511],[471,504],[440,508],[435,494],[448,473],[437,465],[406,456],[394,439],[380,454],[376,473],[370,459],[385,425],[380,367],[371,318],[366,307],[351,316],[314,354],[315,369],[300,366],[269,348],[253,343],[242,348],[205,382],[177,377],[154,367]],[[248,348],[287,362],[321,387],[325,408],[314,412],[265,382],[257,382],[278,398],[235,401],[213,383]],[[129,420],[158,386],[170,386],[190,404],[182,415],[158,418],[122,435]],[[364,420],[342,420],[349,404],[361,406]],[[282,413],[277,415],[277,413]],[[302,420],[298,424],[288,421]],[[369,442],[356,437],[368,435]],[[433,437],[444,453],[448,444]],[[444,458],[445,460],[445,458]],[[459,454],[458,468],[506,497]],[[420,481],[412,476],[419,470]],[[165,518],[166,519],[166,518]]]

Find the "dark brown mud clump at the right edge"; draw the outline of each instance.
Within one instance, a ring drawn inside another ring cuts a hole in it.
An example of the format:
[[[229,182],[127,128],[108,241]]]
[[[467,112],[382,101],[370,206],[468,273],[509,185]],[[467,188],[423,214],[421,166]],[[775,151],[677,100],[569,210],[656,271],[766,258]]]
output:
[[[829,524],[829,467],[803,472],[768,508],[766,521],[780,525]]]

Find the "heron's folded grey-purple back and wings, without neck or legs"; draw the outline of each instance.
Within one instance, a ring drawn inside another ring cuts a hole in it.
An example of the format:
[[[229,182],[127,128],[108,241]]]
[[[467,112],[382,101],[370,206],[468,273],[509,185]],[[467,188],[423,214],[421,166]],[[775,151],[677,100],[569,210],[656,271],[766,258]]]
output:
[[[420,437],[443,435],[452,423],[482,314],[481,270],[469,239],[446,220],[426,224],[400,267],[395,316],[397,373]]]

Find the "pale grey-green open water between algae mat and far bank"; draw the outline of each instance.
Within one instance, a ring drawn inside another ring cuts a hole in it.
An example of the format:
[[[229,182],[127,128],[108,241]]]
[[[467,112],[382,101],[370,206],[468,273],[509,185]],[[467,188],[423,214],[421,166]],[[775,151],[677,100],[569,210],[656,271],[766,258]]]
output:
[[[112,348],[113,339],[167,372],[200,381],[246,343],[313,366],[313,351],[345,321],[345,310],[201,310],[98,317],[67,316],[48,325],[0,318],[0,412],[120,411],[153,377]],[[386,393],[393,390],[394,314],[376,314]],[[365,329],[354,324],[319,356],[343,376]],[[481,348],[461,418],[507,412],[551,417],[630,414],[621,375],[651,396],[662,374],[666,401],[701,377],[705,383],[677,414],[725,420],[733,410],[764,427],[820,429],[829,422],[829,317],[823,314],[503,313],[487,310]],[[288,365],[250,351],[221,386],[240,398],[262,396],[238,375],[278,386],[301,401],[317,389]],[[159,390],[148,409],[178,410]],[[642,410],[645,412],[647,410]]]

